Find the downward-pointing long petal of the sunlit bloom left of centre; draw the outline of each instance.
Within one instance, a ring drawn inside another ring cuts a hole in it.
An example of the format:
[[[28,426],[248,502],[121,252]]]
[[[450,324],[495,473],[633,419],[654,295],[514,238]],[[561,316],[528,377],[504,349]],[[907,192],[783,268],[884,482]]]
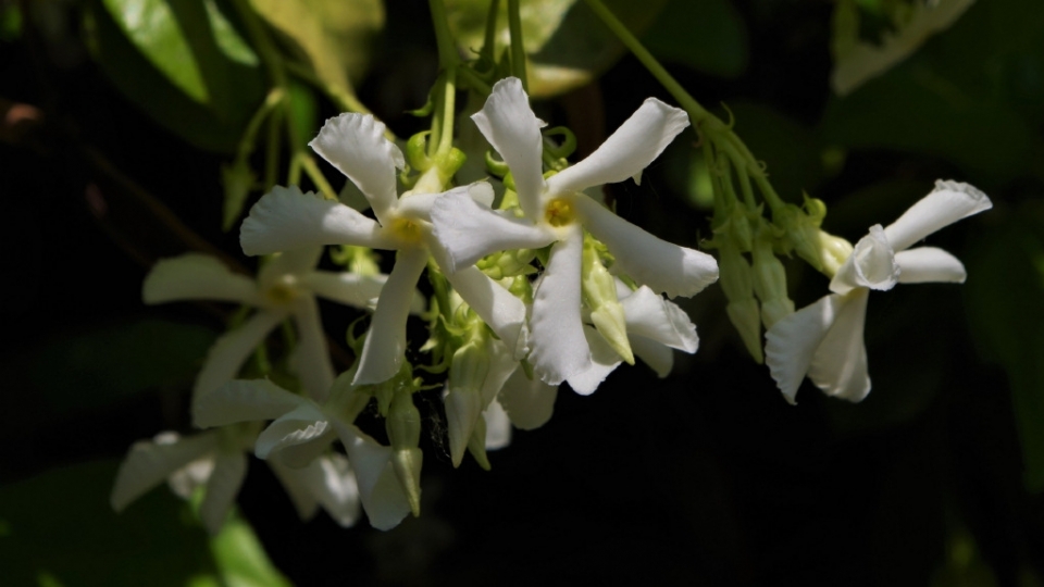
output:
[[[406,352],[406,319],[410,314],[417,279],[426,263],[426,249],[399,251],[395,268],[381,291],[377,309],[370,322],[359,359],[359,371],[352,380],[355,385],[386,382],[399,371],[402,353]]]

